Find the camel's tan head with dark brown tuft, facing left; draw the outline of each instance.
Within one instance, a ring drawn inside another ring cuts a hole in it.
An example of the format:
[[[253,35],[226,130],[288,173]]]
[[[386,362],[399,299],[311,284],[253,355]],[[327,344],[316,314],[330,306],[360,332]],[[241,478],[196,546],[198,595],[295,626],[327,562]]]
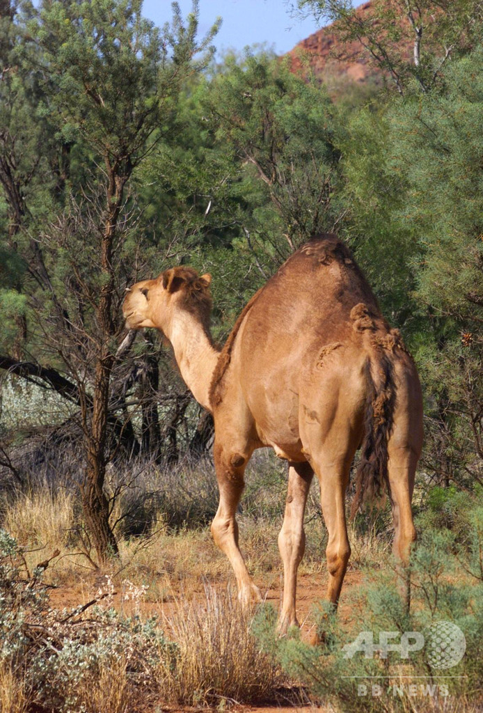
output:
[[[123,315],[129,329],[169,329],[175,312],[194,314],[204,326],[209,321],[212,297],[211,275],[198,275],[192,267],[172,267],[156,279],[145,279],[128,287]]]

